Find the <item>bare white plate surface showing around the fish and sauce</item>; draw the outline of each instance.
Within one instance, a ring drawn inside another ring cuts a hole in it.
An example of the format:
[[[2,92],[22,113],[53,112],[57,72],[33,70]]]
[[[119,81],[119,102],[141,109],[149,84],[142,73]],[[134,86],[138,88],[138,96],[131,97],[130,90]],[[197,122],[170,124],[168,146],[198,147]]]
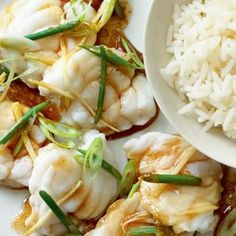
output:
[[[9,1],[4,1],[9,2]],[[151,5],[152,0],[130,0],[133,7],[133,14],[129,26],[126,29],[128,38],[134,43],[134,45],[143,51],[144,46],[144,29],[148,13],[148,8]],[[3,3],[0,4],[0,7]],[[116,158],[125,158],[122,146],[131,137],[138,137],[149,131],[161,131],[161,132],[174,132],[172,127],[168,124],[165,118],[160,115],[158,120],[150,128],[145,131],[139,132],[128,138],[123,138],[117,141],[110,142],[110,146],[115,153]],[[0,236],[15,236],[15,231],[11,228],[12,217],[15,216],[21,209],[22,202],[28,195],[24,190],[9,190],[7,188],[0,187]]]

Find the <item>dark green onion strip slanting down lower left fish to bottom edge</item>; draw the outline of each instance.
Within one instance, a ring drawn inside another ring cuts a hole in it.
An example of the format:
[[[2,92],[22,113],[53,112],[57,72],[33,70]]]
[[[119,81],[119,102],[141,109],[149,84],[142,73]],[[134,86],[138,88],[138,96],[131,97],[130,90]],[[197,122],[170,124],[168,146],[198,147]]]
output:
[[[79,236],[83,235],[78,230],[77,226],[73,223],[73,221],[65,215],[65,213],[61,210],[61,208],[47,192],[40,191],[39,195],[70,233]]]

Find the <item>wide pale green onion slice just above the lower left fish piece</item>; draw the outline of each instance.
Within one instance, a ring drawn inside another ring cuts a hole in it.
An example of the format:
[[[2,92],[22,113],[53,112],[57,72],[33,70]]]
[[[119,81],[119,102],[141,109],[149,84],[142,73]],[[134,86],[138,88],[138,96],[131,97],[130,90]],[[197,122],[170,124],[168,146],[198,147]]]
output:
[[[53,120],[46,119],[43,116],[39,116],[39,122],[49,132],[62,138],[77,138],[80,136],[80,132],[70,125],[55,122]]]

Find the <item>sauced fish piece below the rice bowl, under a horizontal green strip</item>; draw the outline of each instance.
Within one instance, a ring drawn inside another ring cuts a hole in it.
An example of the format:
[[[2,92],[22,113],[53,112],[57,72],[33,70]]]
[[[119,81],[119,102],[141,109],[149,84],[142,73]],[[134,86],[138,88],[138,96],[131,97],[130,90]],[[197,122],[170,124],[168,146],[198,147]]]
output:
[[[190,174],[202,178],[201,186],[187,187],[142,181],[141,205],[161,224],[176,233],[211,231],[214,211],[221,197],[220,164],[197,152],[180,136],[148,133],[124,146],[130,159],[139,163],[140,175]]]

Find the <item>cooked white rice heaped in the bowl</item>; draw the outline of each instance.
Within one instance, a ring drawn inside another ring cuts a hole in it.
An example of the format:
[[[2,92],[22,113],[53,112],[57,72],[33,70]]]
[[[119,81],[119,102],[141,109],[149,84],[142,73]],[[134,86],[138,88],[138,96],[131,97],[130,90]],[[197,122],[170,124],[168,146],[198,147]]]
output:
[[[161,74],[188,102],[179,112],[236,138],[236,0],[176,5],[167,51]]]

